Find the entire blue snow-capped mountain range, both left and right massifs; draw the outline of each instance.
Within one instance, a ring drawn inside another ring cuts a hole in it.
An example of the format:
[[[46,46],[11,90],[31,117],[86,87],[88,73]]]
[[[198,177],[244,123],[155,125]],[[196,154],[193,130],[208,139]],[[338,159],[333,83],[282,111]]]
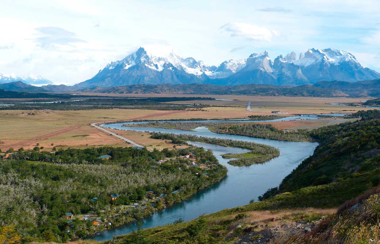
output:
[[[140,47],[124,59],[109,63],[94,77],[74,85],[74,88],[164,83],[297,86],[319,81],[354,82],[378,78],[380,73],[364,68],[351,53],[332,48],[312,48],[299,56],[291,52],[273,61],[264,51],[250,54],[247,59],[230,59],[216,67],[192,57],[182,58],[173,51],[156,55]]]

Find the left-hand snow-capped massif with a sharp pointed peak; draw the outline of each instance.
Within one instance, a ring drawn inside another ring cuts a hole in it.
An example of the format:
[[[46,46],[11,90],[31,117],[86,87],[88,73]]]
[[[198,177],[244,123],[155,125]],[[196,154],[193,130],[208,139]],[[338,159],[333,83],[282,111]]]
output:
[[[93,78],[76,86],[91,88],[133,84],[204,83],[209,79],[227,77],[244,66],[244,60],[225,61],[219,67],[210,66],[192,57],[182,58],[169,49],[157,54],[140,47],[124,59],[107,64]]]

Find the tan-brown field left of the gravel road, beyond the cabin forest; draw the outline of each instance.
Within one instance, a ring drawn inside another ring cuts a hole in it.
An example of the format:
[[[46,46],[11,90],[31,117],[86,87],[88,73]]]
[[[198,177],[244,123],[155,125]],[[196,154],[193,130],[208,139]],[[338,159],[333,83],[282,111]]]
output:
[[[27,115],[34,112],[36,115]],[[32,149],[36,143],[44,150],[54,146],[86,147],[88,146],[126,146],[120,139],[90,127],[93,122],[116,120],[154,120],[170,118],[239,118],[249,115],[242,108],[219,109],[218,111],[164,111],[140,109],[109,110],[1,110],[0,111],[0,149],[13,147]],[[139,142],[139,141],[136,141]],[[150,145],[150,144],[149,144]],[[154,144],[152,144],[154,145]],[[172,147],[172,145],[171,145]]]

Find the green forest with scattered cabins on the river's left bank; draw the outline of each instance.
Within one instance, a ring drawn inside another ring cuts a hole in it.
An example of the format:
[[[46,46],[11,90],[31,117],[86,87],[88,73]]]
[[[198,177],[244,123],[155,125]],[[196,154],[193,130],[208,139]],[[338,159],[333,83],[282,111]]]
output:
[[[204,170],[185,167],[190,162],[176,158],[190,151],[201,161],[217,164],[207,171],[209,177],[195,177]],[[111,158],[98,159],[101,155]],[[157,163],[166,157],[173,159]],[[225,176],[226,168],[218,164],[212,152],[198,147],[152,152],[122,147],[68,148],[54,154],[17,152],[0,160],[0,225],[15,226],[22,241],[65,242],[109,228],[83,220],[79,217],[82,214],[95,212],[112,226],[121,225],[154,211],[149,202],[145,207],[120,210],[121,205],[150,199],[148,191],[165,194],[155,203],[155,209],[160,209]],[[119,198],[112,201],[111,194],[119,194]],[[91,201],[94,198],[96,202]],[[67,223],[68,212],[74,214],[73,222]]]

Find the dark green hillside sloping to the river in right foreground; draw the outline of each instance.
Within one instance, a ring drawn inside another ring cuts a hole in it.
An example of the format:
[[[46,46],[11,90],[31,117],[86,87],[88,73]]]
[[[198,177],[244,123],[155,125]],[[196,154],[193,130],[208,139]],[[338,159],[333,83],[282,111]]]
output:
[[[320,142],[315,153],[294,169],[279,188],[265,193],[261,201],[201,216],[186,223],[139,230],[119,236],[110,243],[136,243],[136,238],[141,241],[139,243],[233,243],[236,238],[255,233],[255,218],[259,218],[257,216],[268,215],[269,225],[272,225],[269,215],[282,214],[283,211],[287,211],[288,215],[280,215],[283,219],[281,221],[295,218],[299,211],[303,212],[301,219],[318,219],[320,215],[305,214],[310,207],[338,208],[345,201],[356,198],[380,183],[380,116],[374,111],[360,113],[363,120],[327,126],[310,132],[310,136]],[[321,222],[316,231],[333,230],[334,226],[341,226],[342,229],[356,231],[352,233],[362,233],[361,239],[359,238],[361,242],[358,243],[370,243],[369,238],[378,240],[379,231],[368,234],[368,230],[371,226],[376,226],[380,216],[379,208],[376,207],[379,202],[377,195],[359,197],[360,203],[359,200],[351,200],[350,204],[346,203],[340,207],[340,211],[334,215],[336,217],[333,217],[334,221]],[[372,204],[369,207],[366,207],[367,198],[368,204]],[[346,214],[342,215],[344,209],[351,208],[355,203],[359,203],[356,207],[363,206],[359,209],[364,209],[364,212],[357,215],[345,212]],[[339,216],[344,216],[344,219]],[[361,216],[367,217],[361,219]],[[342,221],[338,222],[339,219]],[[361,220],[369,224],[363,225],[364,229],[358,231],[358,228],[361,228]],[[355,226],[358,227],[354,228]],[[265,227],[257,228],[263,229]],[[367,234],[364,235],[366,230]],[[350,242],[351,239],[345,239],[348,236],[358,235],[346,233],[334,237],[339,243],[353,243]],[[288,243],[325,243],[313,242],[315,238],[310,234],[302,238],[303,242]]]

